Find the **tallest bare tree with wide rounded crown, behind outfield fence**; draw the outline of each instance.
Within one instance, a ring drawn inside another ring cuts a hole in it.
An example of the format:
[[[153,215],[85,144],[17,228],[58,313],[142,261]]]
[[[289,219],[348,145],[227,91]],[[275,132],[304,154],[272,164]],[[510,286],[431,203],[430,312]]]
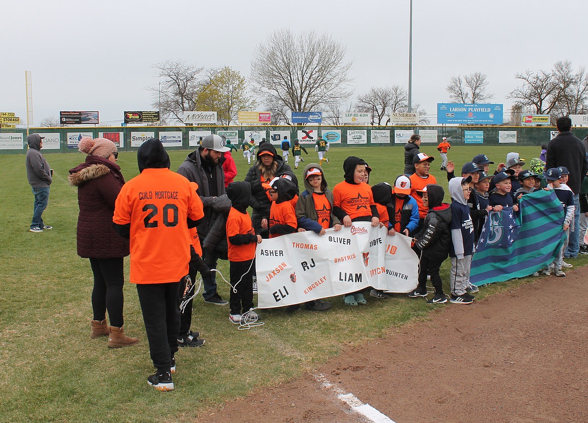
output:
[[[309,31],[295,37],[287,29],[274,31],[253,50],[254,92],[272,111],[283,114],[345,101],[353,83],[346,52],[327,34]]]

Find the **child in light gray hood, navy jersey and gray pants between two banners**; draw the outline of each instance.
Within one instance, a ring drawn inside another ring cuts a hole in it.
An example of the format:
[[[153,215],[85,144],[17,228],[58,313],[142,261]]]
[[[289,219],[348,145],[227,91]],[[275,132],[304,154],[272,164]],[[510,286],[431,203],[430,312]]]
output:
[[[451,194],[451,297],[453,304],[470,304],[475,299],[467,292],[470,286],[470,263],[474,252],[474,226],[467,199],[470,196],[470,177],[449,181]]]

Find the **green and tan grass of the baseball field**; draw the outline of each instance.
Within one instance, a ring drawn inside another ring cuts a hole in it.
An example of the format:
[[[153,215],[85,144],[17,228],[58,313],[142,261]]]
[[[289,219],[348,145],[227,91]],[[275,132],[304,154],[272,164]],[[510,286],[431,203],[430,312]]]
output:
[[[423,144],[421,150],[436,158],[432,174],[447,188],[435,147]],[[304,164],[318,160],[311,150],[304,155]],[[539,157],[540,148],[455,147],[449,158],[459,172],[476,154],[487,154],[500,163],[509,151],[518,151],[528,163]],[[171,168],[176,170],[189,151],[169,153]],[[372,185],[382,181],[392,184],[403,171],[404,150],[400,146],[331,148],[327,155],[330,163],[323,166],[331,188],[343,180],[342,163],[349,155],[369,163]],[[240,153],[233,157],[238,167],[236,180],[243,180],[249,166]],[[26,181],[25,157],[0,155],[1,421],[191,421],[223,401],[312,370],[345,347],[426,319],[432,310],[458,307],[430,306],[404,295],[386,300],[367,297],[367,305],[349,307],[343,305],[342,298],[334,297],[327,312],[261,310],[265,326],[239,331],[228,321],[227,306],[205,304],[199,296],[194,303],[192,330],[198,330],[206,344],[182,348],[176,355],[175,391],[155,391],[146,383],[153,368],[135,286],[126,283],[124,288],[125,331],[139,337],[139,343],[112,350],[106,347],[105,338],[89,337],[92,272],[88,259],[76,255],[78,202],[76,189],[67,183],[68,170],[81,163],[84,155],[46,154],[46,158],[55,175],[44,221],[54,229],[33,234],[28,232],[33,196]],[[135,153],[121,153],[118,163],[126,180],[138,174]],[[302,169],[296,171],[300,178]],[[450,201],[447,192],[445,201]],[[586,261],[584,257],[570,260],[574,267]],[[128,280],[128,258],[125,263]],[[220,260],[219,269],[228,275],[228,262]],[[443,280],[448,276],[449,260],[442,267]],[[478,299],[531,280],[483,287]],[[228,299],[229,286],[220,278],[218,285],[220,295]],[[449,292],[448,285],[445,288]]]

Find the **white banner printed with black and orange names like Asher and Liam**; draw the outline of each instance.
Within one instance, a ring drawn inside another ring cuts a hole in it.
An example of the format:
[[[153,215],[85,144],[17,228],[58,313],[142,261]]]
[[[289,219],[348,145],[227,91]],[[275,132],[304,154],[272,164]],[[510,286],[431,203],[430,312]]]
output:
[[[419,258],[411,238],[354,222],[323,236],[312,231],[264,239],[255,260],[258,307],[289,306],[368,286],[385,292],[416,288]]]

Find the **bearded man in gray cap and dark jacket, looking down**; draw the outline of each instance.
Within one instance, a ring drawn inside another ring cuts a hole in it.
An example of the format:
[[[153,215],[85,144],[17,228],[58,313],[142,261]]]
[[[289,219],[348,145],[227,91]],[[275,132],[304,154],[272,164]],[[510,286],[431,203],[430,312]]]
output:
[[[215,207],[216,199],[225,194],[225,171],[222,168],[225,158],[222,153],[226,153],[226,151],[230,151],[230,148],[225,147],[225,140],[222,137],[216,134],[206,136],[198,150],[190,153],[178,168],[179,174],[198,184],[197,192],[204,205],[204,219],[197,229],[202,244],[202,258],[210,269],[216,269],[219,252],[217,249],[204,248],[204,244],[206,236],[218,218]],[[215,272],[210,275],[202,275],[204,283],[202,296],[206,303],[224,306],[229,302],[223,300],[216,292],[215,275]]]

